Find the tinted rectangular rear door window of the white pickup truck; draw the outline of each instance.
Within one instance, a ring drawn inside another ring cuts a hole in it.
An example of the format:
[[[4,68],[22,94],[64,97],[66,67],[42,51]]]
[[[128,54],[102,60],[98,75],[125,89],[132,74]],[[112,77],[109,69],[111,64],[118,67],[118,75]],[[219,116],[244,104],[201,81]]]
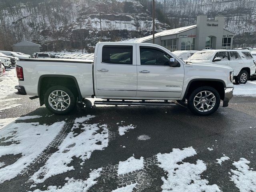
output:
[[[132,65],[132,46],[105,45],[102,48],[102,62]]]

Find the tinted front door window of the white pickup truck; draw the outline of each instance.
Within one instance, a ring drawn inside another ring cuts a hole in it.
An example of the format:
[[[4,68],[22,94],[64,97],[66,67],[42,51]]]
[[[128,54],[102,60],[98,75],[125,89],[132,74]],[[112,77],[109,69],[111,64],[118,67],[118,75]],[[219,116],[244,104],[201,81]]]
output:
[[[160,49],[140,46],[140,65],[169,66],[170,58],[170,55]]]

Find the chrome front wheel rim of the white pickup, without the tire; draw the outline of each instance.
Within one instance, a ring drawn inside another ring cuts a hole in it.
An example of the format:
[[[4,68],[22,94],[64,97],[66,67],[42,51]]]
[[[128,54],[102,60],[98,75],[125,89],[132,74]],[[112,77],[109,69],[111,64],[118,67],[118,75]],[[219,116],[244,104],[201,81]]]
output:
[[[201,91],[194,97],[194,107],[200,112],[212,110],[216,103],[216,97],[210,91]]]

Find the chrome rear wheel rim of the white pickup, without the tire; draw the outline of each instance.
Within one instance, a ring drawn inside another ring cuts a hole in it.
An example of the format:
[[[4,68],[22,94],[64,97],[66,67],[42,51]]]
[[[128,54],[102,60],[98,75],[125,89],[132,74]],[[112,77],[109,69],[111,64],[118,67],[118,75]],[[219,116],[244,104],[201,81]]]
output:
[[[64,111],[70,106],[70,97],[62,90],[55,90],[49,95],[48,102],[54,110]]]

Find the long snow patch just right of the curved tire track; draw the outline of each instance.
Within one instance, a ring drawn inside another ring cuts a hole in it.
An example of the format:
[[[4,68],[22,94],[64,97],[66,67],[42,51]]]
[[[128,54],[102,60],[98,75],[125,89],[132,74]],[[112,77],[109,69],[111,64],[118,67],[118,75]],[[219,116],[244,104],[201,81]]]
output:
[[[34,183],[42,183],[51,176],[74,170],[73,166],[68,166],[74,156],[85,161],[90,158],[93,151],[104,150],[108,146],[106,124],[86,124],[86,121],[93,117],[88,115],[75,120],[72,131],[60,144],[58,151],[52,154],[45,165],[31,177]],[[76,134],[75,131],[80,133]]]

